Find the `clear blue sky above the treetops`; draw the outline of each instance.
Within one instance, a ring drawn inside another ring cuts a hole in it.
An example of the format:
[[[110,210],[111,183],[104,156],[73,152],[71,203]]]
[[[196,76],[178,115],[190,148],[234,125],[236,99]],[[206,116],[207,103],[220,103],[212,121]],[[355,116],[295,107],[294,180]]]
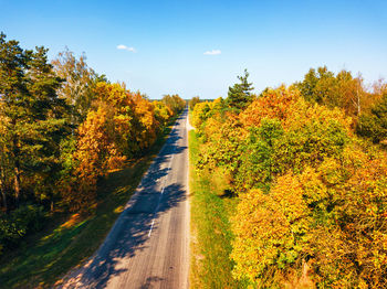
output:
[[[387,77],[384,0],[0,0],[0,31],[22,47],[85,52],[96,72],[150,98],[226,97],[244,68],[255,92],[321,65]]]

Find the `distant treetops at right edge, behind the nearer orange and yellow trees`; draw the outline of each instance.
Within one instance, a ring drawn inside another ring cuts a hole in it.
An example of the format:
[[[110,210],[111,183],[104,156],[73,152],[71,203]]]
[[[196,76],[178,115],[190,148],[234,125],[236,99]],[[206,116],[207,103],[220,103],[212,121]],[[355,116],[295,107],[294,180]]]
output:
[[[356,132],[378,143],[387,139],[386,84],[379,81],[372,92],[363,84],[362,76],[353,77],[351,72],[336,75],[325,66],[311,68],[302,83],[295,85],[308,101],[327,107],[338,107],[354,119]]]

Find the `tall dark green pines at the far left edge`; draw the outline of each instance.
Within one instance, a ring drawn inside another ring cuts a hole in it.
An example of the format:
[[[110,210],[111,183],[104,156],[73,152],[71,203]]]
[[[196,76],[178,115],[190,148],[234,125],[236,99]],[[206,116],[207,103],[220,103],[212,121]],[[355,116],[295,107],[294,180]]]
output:
[[[35,184],[35,197],[52,195],[52,181],[60,170],[60,142],[70,132],[69,107],[56,95],[62,79],[48,63],[46,52],[43,47],[22,50],[18,41],[0,34],[0,115],[7,119],[2,139],[7,139],[3,147],[9,151],[17,204],[21,181],[29,178]]]

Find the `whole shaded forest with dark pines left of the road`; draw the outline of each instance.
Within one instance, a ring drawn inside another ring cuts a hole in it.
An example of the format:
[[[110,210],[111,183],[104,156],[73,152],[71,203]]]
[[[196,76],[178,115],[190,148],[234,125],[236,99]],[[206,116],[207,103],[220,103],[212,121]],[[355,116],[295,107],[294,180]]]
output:
[[[92,215],[101,180],[139,158],[184,109],[111,83],[69,50],[0,34],[0,255],[55,212]]]

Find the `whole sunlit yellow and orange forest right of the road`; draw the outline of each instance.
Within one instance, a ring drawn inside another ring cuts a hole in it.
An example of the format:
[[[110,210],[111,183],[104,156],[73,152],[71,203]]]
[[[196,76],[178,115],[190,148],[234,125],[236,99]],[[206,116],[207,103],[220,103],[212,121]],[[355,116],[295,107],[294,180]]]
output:
[[[224,99],[190,101],[195,171],[221,175],[217,202],[237,200],[232,277],[253,288],[386,288],[387,84],[323,66],[254,95],[248,77]]]

